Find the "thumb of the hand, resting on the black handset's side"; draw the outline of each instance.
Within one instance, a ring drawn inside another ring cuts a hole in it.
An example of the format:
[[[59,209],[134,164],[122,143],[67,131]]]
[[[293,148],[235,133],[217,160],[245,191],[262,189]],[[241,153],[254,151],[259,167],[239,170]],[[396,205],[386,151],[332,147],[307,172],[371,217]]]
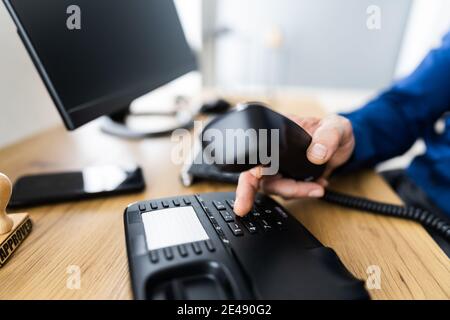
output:
[[[308,160],[319,165],[328,162],[339,148],[343,133],[344,128],[338,117],[324,118],[312,136],[307,151]]]

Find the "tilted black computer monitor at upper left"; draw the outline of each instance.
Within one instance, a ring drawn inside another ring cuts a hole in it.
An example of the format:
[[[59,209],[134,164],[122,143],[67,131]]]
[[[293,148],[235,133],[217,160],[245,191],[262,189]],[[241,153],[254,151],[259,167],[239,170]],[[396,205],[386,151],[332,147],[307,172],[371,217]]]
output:
[[[171,0],[5,0],[68,129],[195,69]]]

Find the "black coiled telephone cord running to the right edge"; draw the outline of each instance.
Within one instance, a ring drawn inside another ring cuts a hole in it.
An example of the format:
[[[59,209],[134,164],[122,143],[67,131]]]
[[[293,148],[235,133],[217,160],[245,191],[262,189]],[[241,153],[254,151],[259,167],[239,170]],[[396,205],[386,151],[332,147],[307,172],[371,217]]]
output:
[[[450,224],[421,208],[412,206],[399,206],[369,200],[362,197],[350,196],[339,192],[326,190],[323,200],[348,208],[363,210],[371,213],[394,216],[403,219],[414,220],[426,227],[436,230],[445,240],[450,241]]]

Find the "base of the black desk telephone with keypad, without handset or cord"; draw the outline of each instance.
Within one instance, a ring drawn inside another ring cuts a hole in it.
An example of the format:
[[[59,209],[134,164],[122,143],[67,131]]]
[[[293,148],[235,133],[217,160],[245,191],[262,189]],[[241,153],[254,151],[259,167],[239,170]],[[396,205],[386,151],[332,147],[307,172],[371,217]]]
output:
[[[368,299],[335,252],[271,198],[245,218],[234,193],[143,201],[125,211],[136,299]]]

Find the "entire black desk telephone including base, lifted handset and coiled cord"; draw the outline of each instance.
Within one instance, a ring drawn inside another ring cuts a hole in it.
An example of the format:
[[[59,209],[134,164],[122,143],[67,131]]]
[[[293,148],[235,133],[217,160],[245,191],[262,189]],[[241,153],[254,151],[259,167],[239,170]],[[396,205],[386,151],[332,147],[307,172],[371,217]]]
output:
[[[258,103],[240,106],[211,121],[214,128],[279,129],[279,168],[284,176],[311,181],[325,167],[306,158],[311,136]],[[207,139],[206,139],[207,140]],[[268,138],[270,140],[270,138]],[[205,139],[202,139],[205,141]],[[206,144],[203,144],[203,148]],[[239,150],[238,150],[239,152]],[[247,147],[236,159],[259,153]],[[255,154],[252,154],[255,153]],[[227,172],[233,181],[246,164],[200,165],[204,177]],[[254,166],[254,165],[253,165]],[[194,170],[194,171],[195,171]],[[137,299],[368,299],[330,248],[324,247],[281,205],[258,194],[245,218],[233,213],[234,193],[206,193],[144,201],[125,210],[127,251]],[[419,221],[447,239],[450,226],[432,213],[343,195],[324,200],[364,211]]]

